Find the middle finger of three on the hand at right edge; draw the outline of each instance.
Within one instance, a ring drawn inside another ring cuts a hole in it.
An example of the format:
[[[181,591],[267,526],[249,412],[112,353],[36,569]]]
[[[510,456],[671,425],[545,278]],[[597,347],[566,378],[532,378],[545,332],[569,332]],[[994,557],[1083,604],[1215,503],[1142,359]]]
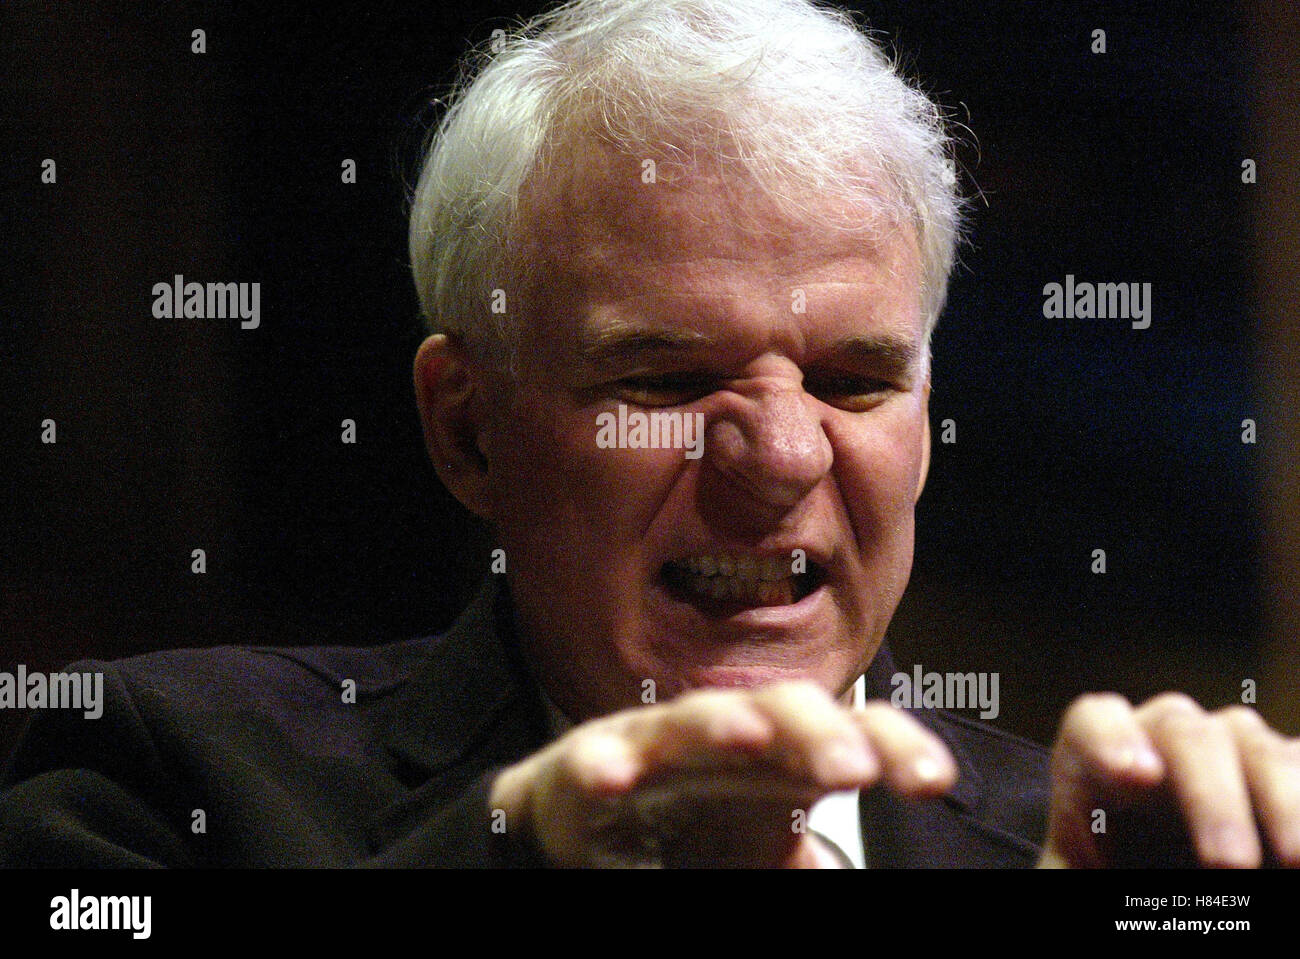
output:
[[[1176,693],[1156,697],[1136,715],[1165,760],[1201,864],[1260,865],[1260,837],[1232,728]]]

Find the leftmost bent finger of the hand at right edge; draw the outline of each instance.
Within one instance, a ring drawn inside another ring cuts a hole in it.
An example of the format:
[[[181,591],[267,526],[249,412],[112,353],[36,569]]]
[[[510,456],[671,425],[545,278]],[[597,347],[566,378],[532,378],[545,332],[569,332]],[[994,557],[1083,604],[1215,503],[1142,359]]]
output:
[[[1052,748],[1044,864],[1106,865],[1093,832],[1096,811],[1149,793],[1164,774],[1165,765],[1127,699],[1114,693],[1079,697],[1066,710]]]

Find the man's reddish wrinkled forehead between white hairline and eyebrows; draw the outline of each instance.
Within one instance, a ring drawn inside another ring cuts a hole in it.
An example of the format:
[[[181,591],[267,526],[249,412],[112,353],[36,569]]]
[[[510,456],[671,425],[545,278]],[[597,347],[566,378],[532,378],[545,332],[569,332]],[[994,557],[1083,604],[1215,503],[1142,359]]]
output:
[[[512,255],[537,287],[521,291],[525,299],[542,299],[542,286],[653,286],[664,269],[680,275],[719,260],[776,265],[783,275],[888,260],[920,301],[915,233],[880,198],[827,198],[805,187],[783,203],[734,161],[584,146],[547,162],[521,191]]]

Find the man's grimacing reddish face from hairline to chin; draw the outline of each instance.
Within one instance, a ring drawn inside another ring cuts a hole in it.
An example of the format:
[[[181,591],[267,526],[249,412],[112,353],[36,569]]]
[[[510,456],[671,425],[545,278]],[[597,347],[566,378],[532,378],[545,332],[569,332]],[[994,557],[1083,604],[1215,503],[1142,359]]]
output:
[[[911,230],[764,235],[732,190],[593,151],[528,196],[540,279],[484,451],[525,650],[575,721],[651,689],[844,695],[907,582],[930,446]],[[702,456],[602,448],[620,403],[702,415]]]

